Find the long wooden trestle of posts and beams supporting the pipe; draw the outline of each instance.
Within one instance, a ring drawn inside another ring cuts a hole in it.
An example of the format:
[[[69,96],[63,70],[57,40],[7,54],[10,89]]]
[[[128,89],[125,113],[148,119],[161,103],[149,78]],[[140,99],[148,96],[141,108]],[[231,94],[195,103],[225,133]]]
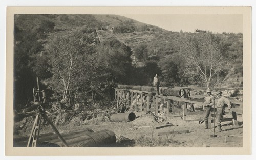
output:
[[[151,93],[151,92],[147,92],[147,91],[115,88],[115,99],[117,101],[117,109],[120,109],[120,110],[123,106],[130,106],[130,108],[132,107],[133,111],[135,111],[135,112],[152,111],[152,112],[155,112],[155,114],[157,115],[160,108],[162,108],[162,112],[165,112],[167,114],[167,116],[181,117],[184,121],[188,121],[188,122],[189,121],[202,121],[202,119],[186,120],[186,117],[189,115],[203,114],[203,111],[188,112],[187,104],[190,104],[194,111],[193,104],[202,106],[204,97],[203,96],[202,97],[190,96],[188,90],[185,90],[185,92],[186,92],[186,94],[184,94],[182,97],[175,97],[175,96],[156,95],[155,93]],[[174,101],[179,101],[179,102],[184,103],[182,115],[175,114]],[[160,103],[160,105],[159,105],[159,103]],[[166,103],[167,103],[167,110],[164,111],[164,104],[166,105]],[[243,106],[243,102],[231,101],[231,103],[232,103],[232,106],[234,106],[234,105]],[[170,109],[172,109],[172,110],[170,110]],[[172,111],[172,114],[170,114],[170,111]],[[222,121],[233,121],[233,125],[238,125],[237,112],[240,115],[242,115],[243,110],[240,110],[237,108],[231,108],[230,111],[232,112],[232,118],[224,118]],[[227,112],[230,112],[230,111],[227,111]],[[211,110],[212,114],[210,114],[209,118],[208,118],[208,127],[209,128],[211,128],[213,112],[214,111],[212,109]]]

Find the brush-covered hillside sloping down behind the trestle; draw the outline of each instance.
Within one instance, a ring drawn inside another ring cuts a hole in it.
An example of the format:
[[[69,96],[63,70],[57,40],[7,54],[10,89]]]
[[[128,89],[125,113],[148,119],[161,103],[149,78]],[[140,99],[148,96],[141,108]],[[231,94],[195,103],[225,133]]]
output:
[[[95,29],[100,44],[95,40],[97,39],[94,35]],[[63,40],[65,36],[70,35],[69,39],[73,39],[72,34],[76,31],[83,34],[80,35],[85,37],[82,40],[90,41],[89,50],[90,54],[95,54],[94,60],[98,58],[98,61],[108,61],[102,69],[105,71],[102,74],[110,78],[107,83],[152,85],[154,75],[159,73],[162,86],[205,87],[200,79],[185,74],[189,63],[185,62],[181,55],[181,49],[185,46],[182,46],[184,40],[197,38],[204,31],[198,29],[195,33],[166,31],[158,26],[119,15],[19,14],[14,16],[14,79],[18,101],[29,101],[28,97],[32,97],[31,88],[35,86],[33,83],[35,77],[51,81],[54,74],[53,64],[49,62],[49,57],[52,56],[49,47],[59,47],[62,43],[58,41],[53,45],[58,38]],[[211,32],[208,34],[217,37],[218,51],[225,58],[223,62],[225,66],[219,70],[216,80],[225,77],[229,74],[226,69],[232,68],[227,81],[216,87],[242,87],[243,34]],[[199,41],[200,38],[197,40]],[[54,52],[53,48],[50,49]],[[76,49],[79,50],[77,47]],[[95,66],[95,64],[90,65]],[[91,70],[91,73],[96,74],[96,71]],[[99,82],[101,81],[102,79]],[[89,88],[84,87],[84,90]],[[88,96],[88,91],[82,92]]]

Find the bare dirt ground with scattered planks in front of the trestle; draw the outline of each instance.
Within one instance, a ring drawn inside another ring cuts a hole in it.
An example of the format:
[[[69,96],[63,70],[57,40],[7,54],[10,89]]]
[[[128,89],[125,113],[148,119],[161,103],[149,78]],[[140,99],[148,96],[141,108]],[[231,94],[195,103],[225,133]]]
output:
[[[96,117],[91,120],[86,120],[78,126],[72,125],[57,125],[59,132],[67,132],[73,130],[81,130],[90,128],[94,131],[104,129],[112,130],[116,134],[116,144],[109,147],[243,147],[243,120],[241,116],[237,116],[238,125],[234,126],[232,121],[222,122],[222,132],[213,135],[213,129],[204,129],[205,124],[199,124],[199,121],[183,121],[181,117],[159,115],[159,118],[153,114],[145,112],[135,112],[136,119],[131,122],[110,122],[108,116],[104,121],[102,117]],[[187,120],[200,119],[203,115],[189,115]],[[224,118],[232,117],[231,113],[224,115]],[[157,121],[156,121],[157,120]],[[166,122],[172,126],[154,129],[156,126],[166,125]],[[144,128],[143,128],[143,127]],[[212,123],[213,126],[213,123]],[[158,136],[159,132],[182,131],[189,130],[187,133],[174,133]],[[217,130],[217,129],[215,129]],[[30,132],[27,129],[26,136]],[[42,127],[41,133],[52,132],[51,128]],[[230,135],[239,137],[230,137]],[[108,147],[108,145],[107,145]]]

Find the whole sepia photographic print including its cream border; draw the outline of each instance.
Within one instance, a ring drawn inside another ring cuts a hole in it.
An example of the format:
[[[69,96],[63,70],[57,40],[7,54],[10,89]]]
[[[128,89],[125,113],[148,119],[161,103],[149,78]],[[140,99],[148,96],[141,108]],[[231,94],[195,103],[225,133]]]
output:
[[[250,7],[7,14],[9,155],[250,154]]]

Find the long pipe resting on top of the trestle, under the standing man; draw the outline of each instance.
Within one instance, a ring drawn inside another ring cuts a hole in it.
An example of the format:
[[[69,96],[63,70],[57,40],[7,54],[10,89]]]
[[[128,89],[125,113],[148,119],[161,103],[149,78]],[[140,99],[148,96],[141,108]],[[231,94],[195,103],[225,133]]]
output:
[[[118,85],[118,88],[157,93],[156,87],[151,87],[151,86]],[[178,88],[178,87],[159,87],[159,92],[167,96],[182,97],[184,95],[184,89]]]

